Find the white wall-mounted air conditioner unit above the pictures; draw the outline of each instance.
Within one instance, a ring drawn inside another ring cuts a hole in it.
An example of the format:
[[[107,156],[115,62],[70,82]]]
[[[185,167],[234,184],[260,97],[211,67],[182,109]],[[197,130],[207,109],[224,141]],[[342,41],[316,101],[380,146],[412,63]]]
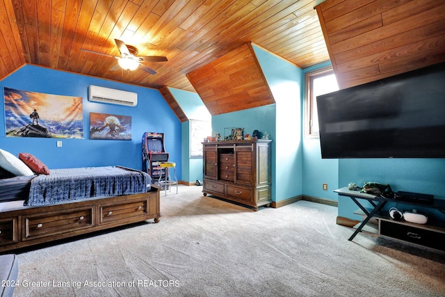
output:
[[[138,94],[124,90],[90,86],[88,88],[88,100],[91,102],[136,106],[138,104]]]

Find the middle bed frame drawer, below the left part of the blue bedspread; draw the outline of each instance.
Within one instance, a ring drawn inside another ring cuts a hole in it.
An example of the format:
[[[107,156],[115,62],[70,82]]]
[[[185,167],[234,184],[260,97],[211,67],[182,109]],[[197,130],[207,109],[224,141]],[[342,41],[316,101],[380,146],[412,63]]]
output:
[[[22,240],[90,228],[93,226],[92,216],[92,207],[25,216]]]

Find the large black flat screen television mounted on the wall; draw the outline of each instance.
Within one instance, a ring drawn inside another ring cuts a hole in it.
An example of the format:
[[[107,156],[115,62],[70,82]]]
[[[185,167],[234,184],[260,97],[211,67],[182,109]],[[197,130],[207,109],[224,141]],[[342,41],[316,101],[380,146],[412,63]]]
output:
[[[445,63],[316,101],[324,159],[445,157]]]

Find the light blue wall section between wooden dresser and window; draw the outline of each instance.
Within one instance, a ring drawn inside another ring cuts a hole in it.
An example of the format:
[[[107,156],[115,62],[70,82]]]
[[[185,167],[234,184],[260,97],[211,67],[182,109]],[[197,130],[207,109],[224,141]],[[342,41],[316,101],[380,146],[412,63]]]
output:
[[[302,70],[288,61],[252,45],[275,98],[273,134],[273,201],[302,194]]]

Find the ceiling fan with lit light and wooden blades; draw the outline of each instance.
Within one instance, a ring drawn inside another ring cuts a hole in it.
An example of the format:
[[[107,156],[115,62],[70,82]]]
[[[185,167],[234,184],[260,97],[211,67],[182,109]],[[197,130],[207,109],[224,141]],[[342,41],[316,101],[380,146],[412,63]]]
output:
[[[109,54],[99,53],[99,51],[90,51],[88,49],[81,49],[81,51],[87,51],[91,54],[98,54],[102,56],[108,56],[111,58],[118,59],[118,65],[111,67],[110,70],[118,70],[118,67],[121,67],[124,70],[136,70],[138,67],[149,73],[156,74],[156,71],[152,70],[152,68],[143,65],[143,62],[165,62],[168,61],[165,56],[138,56],[138,49],[133,47],[132,45],[126,45],[122,40],[115,39],[116,45],[120,51],[120,57],[113,56]]]

